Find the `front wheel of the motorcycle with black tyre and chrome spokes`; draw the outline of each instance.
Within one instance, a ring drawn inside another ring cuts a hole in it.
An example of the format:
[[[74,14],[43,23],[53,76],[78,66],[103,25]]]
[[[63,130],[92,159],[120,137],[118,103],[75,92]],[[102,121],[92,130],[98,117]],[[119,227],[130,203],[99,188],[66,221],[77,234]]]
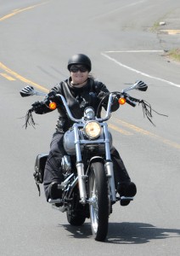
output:
[[[93,236],[96,241],[104,241],[108,233],[109,200],[107,178],[101,162],[94,162],[90,167],[88,192]]]

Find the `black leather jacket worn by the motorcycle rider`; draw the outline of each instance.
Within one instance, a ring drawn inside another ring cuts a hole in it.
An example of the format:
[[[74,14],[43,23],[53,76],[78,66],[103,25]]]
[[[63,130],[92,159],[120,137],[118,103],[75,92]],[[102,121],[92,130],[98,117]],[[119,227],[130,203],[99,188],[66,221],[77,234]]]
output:
[[[76,88],[75,86],[70,85],[70,79],[66,79],[59,84],[56,84],[50,91],[55,91],[65,97],[65,100],[70,108],[70,112],[76,119],[82,118],[84,109],[87,107],[93,107],[95,113],[97,113],[99,102],[101,102],[104,96],[110,94],[110,91],[103,83],[92,78],[88,78],[87,84],[85,84],[82,88]],[[107,96],[106,101],[104,101],[102,105],[105,109],[107,108],[108,98],[109,97]],[[119,103],[114,101],[111,111],[115,111],[118,108]],[[64,133],[73,125],[73,122],[65,113],[65,107],[63,104],[59,106],[58,111],[59,119],[56,125],[56,131]],[[47,108],[47,110],[45,110],[43,113],[48,112],[49,109]],[[99,109],[98,116],[100,115],[100,112],[101,108]]]

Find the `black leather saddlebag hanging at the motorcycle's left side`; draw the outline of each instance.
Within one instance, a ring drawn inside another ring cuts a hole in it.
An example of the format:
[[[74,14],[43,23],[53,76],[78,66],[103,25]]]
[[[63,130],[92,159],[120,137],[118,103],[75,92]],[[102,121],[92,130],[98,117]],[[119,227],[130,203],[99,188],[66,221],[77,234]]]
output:
[[[37,154],[37,160],[35,162],[34,178],[36,183],[43,183],[44,167],[48,159],[48,154]]]

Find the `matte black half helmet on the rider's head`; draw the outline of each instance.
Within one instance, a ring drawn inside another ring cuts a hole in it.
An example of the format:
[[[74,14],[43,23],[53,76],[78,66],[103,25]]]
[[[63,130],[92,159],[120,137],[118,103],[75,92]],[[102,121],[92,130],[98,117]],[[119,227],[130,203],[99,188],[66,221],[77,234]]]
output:
[[[91,60],[87,55],[77,54],[71,56],[70,60],[68,61],[68,70],[70,71],[70,66],[74,64],[82,64],[87,67],[88,71],[91,71]]]

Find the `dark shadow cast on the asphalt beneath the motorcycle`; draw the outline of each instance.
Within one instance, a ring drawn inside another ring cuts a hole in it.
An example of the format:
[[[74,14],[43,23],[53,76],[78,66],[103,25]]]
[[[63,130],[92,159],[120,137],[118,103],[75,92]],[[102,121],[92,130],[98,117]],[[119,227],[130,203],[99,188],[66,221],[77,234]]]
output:
[[[89,238],[92,236],[91,225],[83,224],[80,227],[71,226],[70,224],[59,225],[70,232],[73,238]],[[156,239],[167,239],[179,237],[180,230],[161,229],[152,224],[144,223],[110,223],[106,243],[118,244],[142,244]]]

